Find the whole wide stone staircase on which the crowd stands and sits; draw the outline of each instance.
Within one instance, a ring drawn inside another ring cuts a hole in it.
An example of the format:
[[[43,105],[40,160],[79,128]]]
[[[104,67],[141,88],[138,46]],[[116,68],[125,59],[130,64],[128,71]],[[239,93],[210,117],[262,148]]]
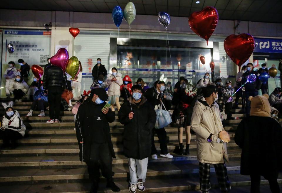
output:
[[[7,100],[1,98],[1,101]],[[37,117],[38,111],[33,112],[33,117],[25,117],[30,105],[31,102],[27,100],[21,103],[16,102],[14,105],[14,108],[19,111],[27,131],[24,139],[19,140],[19,147],[16,149],[1,149],[0,151],[0,192],[88,192],[91,183],[88,179],[86,164],[79,161],[79,149],[75,130],[73,130],[74,120],[71,111],[61,112],[61,123],[47,124],[47,111],[46,117]],[[239,111],[233,110],[233,117],[242,118],[244,115],[239,114]],[[3,108],[0,108],[0,115],[3,115]],[[244,187],[250,185],[250,178],[240,175],[241,149],[234,142],[234,133],[240,121],[240,119],[230,120],[229,125],[225,127],[231,136],[231,142],[228,144],[230,162],[226,165],[234,191],[235,189],[246,189]],[[122,154],[123,125],[116,119],[115,122],[110,123],[110,127],[117,156],[113,160],[114,179],[121,188],[121,192],[127,193],[129,173],[127,158]],[[159,157],[158,160],[149,160],[147,179],[144,183],[145,191],[195,192],[195,190],[199,190],[196,136],[192,135],[190,155],[179,156],[173,153],[178,144],[177,127],[172,124],[165,129],[167,131],[168,149],[174,155],[174,158]],[[185,135],[183,137],[185,139]],[[155,141],[159,150],[160,145],[156,136]],[[213,168],[211,180],[214,191],[219,191]],[[261,184],[267,183],[265,179],[261,179]],[[280,175],[279,183],[282,183],[282,175]],[[100,191],[111,192],[105,188],[105,179],[101,179]]]

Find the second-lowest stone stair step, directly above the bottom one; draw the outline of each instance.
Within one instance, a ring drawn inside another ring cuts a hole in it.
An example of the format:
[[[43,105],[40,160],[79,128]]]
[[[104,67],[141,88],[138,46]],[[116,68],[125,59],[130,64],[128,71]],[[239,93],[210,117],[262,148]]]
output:
[[[240,160],[230,161],[226,164],[227,171],[240,172]],[[114,165],[114,178],[126,178],[129,172],[127,165]],[[211,167],[211,172],[214,168]],[[151,163],[147,168],[148,177],[165,176],[165,175],[181,175],[199,173],[199,162],[197,160],[189,164],[154,164]],[[0,183],[3,182],[28,182],[28,181],[54,181],[64,182],[67,179],[78,180],[88,179],[87,168],[72,169],[0,169]]]

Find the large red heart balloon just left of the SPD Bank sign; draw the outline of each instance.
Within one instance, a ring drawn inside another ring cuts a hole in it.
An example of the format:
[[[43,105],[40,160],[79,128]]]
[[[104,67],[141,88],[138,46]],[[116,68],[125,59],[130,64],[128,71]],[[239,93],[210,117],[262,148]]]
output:
[[[255,40],[249,33],[242,33],[228,36],[223,45],[229,58],[240,68],[252,55],[255,49]]]

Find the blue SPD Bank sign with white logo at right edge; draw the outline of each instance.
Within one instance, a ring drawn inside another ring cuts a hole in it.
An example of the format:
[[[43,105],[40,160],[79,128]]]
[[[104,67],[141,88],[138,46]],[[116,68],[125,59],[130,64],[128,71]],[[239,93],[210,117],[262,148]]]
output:
[[[254,52],[282,53],[282,39],[255,38],[258,43]]]

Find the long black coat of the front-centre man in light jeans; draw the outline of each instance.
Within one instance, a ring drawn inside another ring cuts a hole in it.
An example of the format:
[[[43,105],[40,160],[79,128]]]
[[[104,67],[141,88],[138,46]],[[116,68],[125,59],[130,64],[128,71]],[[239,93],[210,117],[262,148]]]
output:
[[[133,118],[130,120],[128,114],[132,111]],[[142,160],[151,155],[151,130],[155,126],[157,114],[152,105],[142,96],[137,106],[132,98],[125,101],[120,107],[118,118],[124,125],[123,152],[128,158]]]

